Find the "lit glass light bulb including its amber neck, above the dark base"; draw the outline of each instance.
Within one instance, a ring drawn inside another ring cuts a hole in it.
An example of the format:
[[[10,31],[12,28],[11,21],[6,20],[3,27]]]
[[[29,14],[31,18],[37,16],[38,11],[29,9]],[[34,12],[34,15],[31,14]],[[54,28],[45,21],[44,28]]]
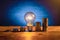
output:
[[[24,18],[25,18],[25,21],[27,22],[27,26],[33,26],[33,22],[36,16],[33,12],[27,12]]]

